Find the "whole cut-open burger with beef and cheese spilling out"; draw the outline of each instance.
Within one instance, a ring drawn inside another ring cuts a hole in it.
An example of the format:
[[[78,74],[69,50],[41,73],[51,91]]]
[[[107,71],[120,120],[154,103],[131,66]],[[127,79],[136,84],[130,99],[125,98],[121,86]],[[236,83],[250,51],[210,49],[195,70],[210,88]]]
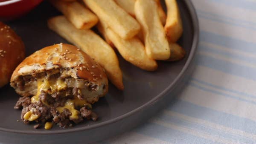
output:
[[[108,92],[104,69],[79,48],[56,44],[38,50],[15,69],[11,86],[23,96],[15,109],[21,119],[71,127],[85,119],[97,119],[91,104]]]

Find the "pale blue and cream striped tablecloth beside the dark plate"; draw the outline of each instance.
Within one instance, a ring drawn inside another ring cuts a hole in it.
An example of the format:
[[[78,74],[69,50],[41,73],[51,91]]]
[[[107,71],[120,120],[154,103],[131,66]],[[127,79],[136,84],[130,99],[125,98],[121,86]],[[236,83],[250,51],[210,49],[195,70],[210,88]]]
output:
[[[256,0],[192,0],[198,62],[160,115],[100,144],[256,144]]]

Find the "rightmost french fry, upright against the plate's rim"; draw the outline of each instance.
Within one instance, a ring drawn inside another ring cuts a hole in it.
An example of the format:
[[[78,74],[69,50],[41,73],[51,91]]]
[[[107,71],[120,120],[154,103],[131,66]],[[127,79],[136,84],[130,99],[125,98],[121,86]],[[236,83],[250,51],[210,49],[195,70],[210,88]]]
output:
[[[165,0],[167,7],[167,19],[164,26],[169,41],[175,43],[183,33],[182,20],[176,0]]]

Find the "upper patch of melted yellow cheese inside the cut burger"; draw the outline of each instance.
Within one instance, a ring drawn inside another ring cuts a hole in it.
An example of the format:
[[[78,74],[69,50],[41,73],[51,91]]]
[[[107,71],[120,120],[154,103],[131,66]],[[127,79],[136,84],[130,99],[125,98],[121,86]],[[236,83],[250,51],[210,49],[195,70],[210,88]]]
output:
[[[37,94],[31,98],[31,102],[35,103],[39,101],[39,95],[41,94],[42,90],[47,91],[48,89],[51,89],[52,92],[56,92],[61,89],[65,89],[66,87],[67,84],[61,79],[58,79],[57,81],[48,81],[47,79],[38,80]]]

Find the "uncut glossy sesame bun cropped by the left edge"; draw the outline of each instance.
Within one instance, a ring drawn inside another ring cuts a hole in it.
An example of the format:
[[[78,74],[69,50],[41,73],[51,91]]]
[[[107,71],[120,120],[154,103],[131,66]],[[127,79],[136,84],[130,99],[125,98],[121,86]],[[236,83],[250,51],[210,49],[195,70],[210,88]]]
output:
[[[21,38],[0,22],[0,87],[9,82],[15,67],[24,58],[25,47]]]

